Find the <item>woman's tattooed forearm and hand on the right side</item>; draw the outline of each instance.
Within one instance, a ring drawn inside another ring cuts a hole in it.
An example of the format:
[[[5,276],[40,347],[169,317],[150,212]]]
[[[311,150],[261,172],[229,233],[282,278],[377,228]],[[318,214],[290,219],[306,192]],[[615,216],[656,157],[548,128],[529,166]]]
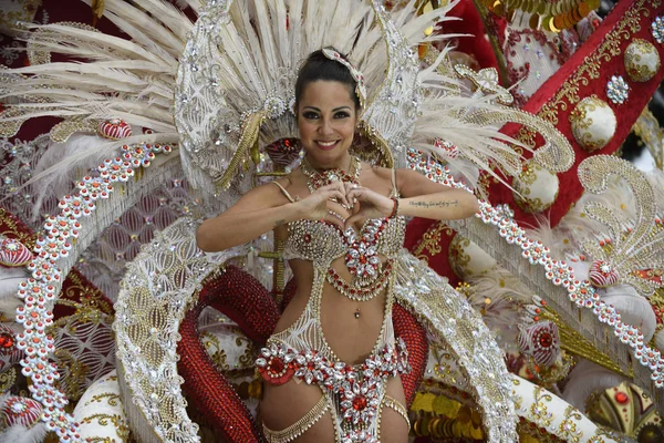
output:
[[[469,217],[479,210],[473,194],[434,183],[415,171],[398,169],[396,183],[402,196],[398,198],[398,215],[450,220]],[[360,205],[346,219],[346,227],[356,220],[386,217],[394,208],[391,198],[365,187],[354,188],[347,197],[350,200],[356,198]]]

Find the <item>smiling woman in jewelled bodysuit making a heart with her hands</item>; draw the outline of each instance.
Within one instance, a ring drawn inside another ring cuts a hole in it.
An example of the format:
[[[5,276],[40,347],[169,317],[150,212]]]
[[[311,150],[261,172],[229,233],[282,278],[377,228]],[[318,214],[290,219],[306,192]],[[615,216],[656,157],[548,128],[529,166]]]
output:
[[[344,56],[313,52],[295,83],[301,167],[252,189],[197,233],[210,251],[270,229],[286,241],[298,290],[257,361],[271,442],[407,441],[406,350],[391,320],[405,217],[478,210],[467,192],[352,156],[363,101],[362,74]]]

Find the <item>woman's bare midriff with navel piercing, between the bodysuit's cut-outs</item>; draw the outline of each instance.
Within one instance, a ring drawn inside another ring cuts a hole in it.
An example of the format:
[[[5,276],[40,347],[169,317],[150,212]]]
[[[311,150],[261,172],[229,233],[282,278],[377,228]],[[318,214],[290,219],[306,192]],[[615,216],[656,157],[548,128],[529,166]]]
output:
[[[281,315],[274,333],[287,330],[302,315],[311,297],[313,265],[291,260],[298,290]],[[333,262],[334,269],[350,280],[343,258]],[[354,301],[325,282],[321,301],[321,327],[328,346],[335,357],[349,364],[363,362],[380,338],[385,317],[385,290],[367,301]]]

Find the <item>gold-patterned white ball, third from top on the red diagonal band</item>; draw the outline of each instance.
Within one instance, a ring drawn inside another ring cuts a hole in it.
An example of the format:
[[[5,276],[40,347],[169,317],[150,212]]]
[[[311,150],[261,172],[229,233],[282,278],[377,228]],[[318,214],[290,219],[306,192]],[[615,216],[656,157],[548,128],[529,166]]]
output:
[[[541,213],[558,198],[558,176],[532,162],[523,165],[523,172],[512,182],[515,203],[527,213]]]

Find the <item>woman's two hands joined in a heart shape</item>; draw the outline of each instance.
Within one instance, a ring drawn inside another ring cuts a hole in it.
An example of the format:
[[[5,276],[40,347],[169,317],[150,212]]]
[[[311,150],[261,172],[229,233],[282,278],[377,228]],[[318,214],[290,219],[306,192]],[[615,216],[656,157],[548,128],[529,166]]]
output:
[[[305,219],[324,219],[341,229],[354,228],[355,223],[364,223],[370,218],[387,217],[394,207],[391,198],[346,182],[321,186],[298,204]],[[349,210],[350,216],[344,219],[343,215],[339,214],[339,206]]]

